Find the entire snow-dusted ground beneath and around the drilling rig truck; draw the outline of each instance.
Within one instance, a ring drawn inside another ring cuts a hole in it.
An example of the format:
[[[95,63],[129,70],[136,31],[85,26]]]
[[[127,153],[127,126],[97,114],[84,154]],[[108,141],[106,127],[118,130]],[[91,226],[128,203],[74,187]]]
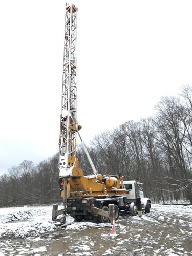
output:
[[[110,224],[60,228],[51,215],[52,206],[0,208],[0,256],[192,255],[191,205],[153,204],[141,218],[120,217],[115,237]]]

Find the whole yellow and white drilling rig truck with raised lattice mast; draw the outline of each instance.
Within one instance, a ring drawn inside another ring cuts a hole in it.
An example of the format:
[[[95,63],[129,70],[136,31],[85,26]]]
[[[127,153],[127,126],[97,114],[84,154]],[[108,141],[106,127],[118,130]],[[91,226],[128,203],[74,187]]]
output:
[[[77,7],[66,5],[65,42],[63,55],[63,76],[61,94],[60,135],[59,135],[59,184],[63,209],[53,205],[52,219],[62,215],[62,223],[71,215],[76,221],[94,220],[106,223],[117,220],[119,214],[130,213],[139,216],[149,212],[151,201],[144,199],[137,181],[123,182],[121,174],[101,174],[84,144],[77,121],[77,61],[76,61],[76,20]],[[81,141],[92,168],[90,175],[84,175],[78,166],[77,135]]]

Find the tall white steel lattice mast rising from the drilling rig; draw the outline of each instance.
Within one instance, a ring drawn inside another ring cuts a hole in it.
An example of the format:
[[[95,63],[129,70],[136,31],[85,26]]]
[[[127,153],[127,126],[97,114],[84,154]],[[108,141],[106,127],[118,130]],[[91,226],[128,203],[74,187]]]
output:
[[[63,55],[63,79],[61,99],[61,120],[59,138],[59,168],[70,168],[69,157],[76,156],[76,99],[77,99],[77,63],[76,63],[76,17],[77,8],[66,7],[65,43]]]

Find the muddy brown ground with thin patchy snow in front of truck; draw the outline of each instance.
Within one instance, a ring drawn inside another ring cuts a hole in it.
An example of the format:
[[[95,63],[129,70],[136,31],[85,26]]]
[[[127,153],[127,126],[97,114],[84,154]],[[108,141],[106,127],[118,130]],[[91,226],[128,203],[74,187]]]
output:
[[[152,205],[150,214],[143,214],[142,218],[120,217],[115,224],[116,236],[111,234],[111,224],[75,222],[37,238],[0,238],[0,256],[192,255],[191,221],[191,208],[187,206],[177,209]]]

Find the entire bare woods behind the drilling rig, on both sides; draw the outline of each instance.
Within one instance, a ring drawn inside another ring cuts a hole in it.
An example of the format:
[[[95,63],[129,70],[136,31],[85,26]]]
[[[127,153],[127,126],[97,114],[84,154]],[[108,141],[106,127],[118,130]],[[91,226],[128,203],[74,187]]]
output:
[[[192,87],[165,97],[156,115],[127,121],[94,137],[88,148],[101,174],[121,174],[143,182],[153,202],[188,200],[192,204]],[[84,175],[91,167],[82,147],[77,157]],[[0,207],[61,202],[58,154],[35,166],[23,161],[0,177]]]

